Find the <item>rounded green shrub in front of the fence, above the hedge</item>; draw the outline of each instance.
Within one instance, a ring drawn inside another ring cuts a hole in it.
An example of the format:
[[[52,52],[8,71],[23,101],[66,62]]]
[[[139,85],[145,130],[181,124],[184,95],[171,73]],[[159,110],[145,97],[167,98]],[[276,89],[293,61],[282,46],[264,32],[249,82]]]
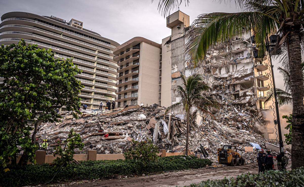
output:
[[[147,141],[135,141],[132,140],[132,146],[124,153],[126,160],[141,161],[144,166],[150,161],[157,160],[158,147],[154,145],[150,140]]]

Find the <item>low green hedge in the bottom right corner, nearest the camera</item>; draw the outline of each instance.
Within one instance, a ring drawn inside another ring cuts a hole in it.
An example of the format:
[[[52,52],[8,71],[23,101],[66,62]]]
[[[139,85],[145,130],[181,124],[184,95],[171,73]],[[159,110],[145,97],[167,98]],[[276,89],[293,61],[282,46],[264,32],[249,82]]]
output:
[[[199,184],[192,184],[191,187],[251,187],[251,186],[267,186],[267,187],[281,187],[281,186],[304,186],[304,167],[293,169],[291,171],[269,171],[265,174],[242,174],[236,178],[224,178],[214,181],[202,181]]]

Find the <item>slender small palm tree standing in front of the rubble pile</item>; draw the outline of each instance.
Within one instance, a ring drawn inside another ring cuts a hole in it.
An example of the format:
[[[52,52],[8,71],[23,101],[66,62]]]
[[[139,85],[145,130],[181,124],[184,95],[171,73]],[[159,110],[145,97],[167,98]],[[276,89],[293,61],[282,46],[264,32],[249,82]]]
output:
[[[219,108],[219,103],[214,97],[204,94],[204,92],[210,90],[210,87],[203,82],[201,74],[193,74],[188,78],[182,75],[181,80],[183,81],[183,87],[177,86],[174,90],[180,101],[168,107],[165,114],[177,109],[182,109],[185,112],[187,125],[185,154],[188,155],[189,121],[192,118],[192,107],[196,107],[196,110],[199,112],[206,113],[209,112],[209,107]]]

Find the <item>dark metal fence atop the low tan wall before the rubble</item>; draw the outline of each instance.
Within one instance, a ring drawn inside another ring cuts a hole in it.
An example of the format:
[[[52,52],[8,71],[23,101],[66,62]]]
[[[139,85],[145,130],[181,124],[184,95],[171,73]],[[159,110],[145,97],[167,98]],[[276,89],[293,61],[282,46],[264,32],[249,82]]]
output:
[[[84,148],[82,150],[75,149],[75,154],[87,154],[88,150],[96,150],[97,154],[121,154],[132,146],[131,141],[83,140],[82,142],[85,144]],[[154,141],[152,143],[158,147],[159,151],[165,149],[161,141]],[[38,150],[46,151],[47,155],[53,155],[57,146],[60,146],[63,150],[66,149],[64,140],[47,139],[46,143],[45,141],[38,140],[36,144],[39,146]],[[22,155],[22,153],[23,151],[19,155]]]

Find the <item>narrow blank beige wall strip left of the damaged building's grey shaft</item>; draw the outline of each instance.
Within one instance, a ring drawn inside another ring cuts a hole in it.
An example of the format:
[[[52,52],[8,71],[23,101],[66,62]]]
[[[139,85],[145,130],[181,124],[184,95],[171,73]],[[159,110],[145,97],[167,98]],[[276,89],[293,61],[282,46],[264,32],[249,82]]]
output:
[[[162,40],[161,106],[171,106],[171,44],[165,44],[171,36]]]

